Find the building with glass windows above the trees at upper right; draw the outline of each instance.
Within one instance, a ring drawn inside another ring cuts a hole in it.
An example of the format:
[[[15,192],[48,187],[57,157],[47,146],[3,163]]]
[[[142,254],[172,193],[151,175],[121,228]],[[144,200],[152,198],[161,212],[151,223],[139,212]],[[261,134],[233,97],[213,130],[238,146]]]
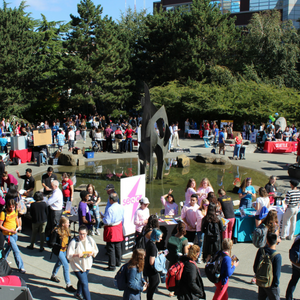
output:
[[[281,12],[282,20],[292,20],[296,28],[299,28],[300,0],[212,0],[217,3],[223,13],[236,16],[235,24],[245,26],[249,23],[254,13],[277,9]],[[174,10],[176,7],[192,4],[191,0],[161,0],[153,3],[156,10],[162,6],[164,10]]]

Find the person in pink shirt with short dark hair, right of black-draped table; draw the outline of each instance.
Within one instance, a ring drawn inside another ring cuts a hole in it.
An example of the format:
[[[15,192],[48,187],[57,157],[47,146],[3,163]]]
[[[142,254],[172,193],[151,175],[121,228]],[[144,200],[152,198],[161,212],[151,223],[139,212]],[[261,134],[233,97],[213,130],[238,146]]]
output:
[[[196,235],[196,211],[199,209],[197,201],[198,196],[193,194],[191,196],[190,204],[185,205],[181,210],[181,219],[186,224],[186,237],[190,243],[194,243]]]

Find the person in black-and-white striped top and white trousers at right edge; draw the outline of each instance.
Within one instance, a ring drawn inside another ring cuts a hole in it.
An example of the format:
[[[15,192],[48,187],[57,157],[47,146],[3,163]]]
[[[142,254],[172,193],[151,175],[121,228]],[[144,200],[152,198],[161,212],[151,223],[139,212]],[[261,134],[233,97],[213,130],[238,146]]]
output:
[[[299,182],[297,180],[291,180],[291,190],[286,193],[285,204],[287,205],[287,208],[283,215],[282,221],[282,240],[291,240],[294,236],[297,222],[297,213],[300,206],[300,190],[298,190],[297,188],[298,184]],[[289,222],[290,230],[289,235],[287,236],[287,228]]]

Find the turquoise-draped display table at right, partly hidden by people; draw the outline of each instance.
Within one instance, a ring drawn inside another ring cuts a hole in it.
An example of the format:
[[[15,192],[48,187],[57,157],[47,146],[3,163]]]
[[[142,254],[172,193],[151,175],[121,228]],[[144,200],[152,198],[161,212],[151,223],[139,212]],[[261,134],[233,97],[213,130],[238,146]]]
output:
[[[282,229],[282,220],[283,220],[283,208],[282,206],[272,206],[272,209],[277,211],[278,222],[280,225],[280,231]],[[235,225],[233,229],[233,239],[237,242],[252,242],[252,233],[255,229],[255,209],[248,208],[244,209],[245,216],[241,217],[239,210],[235,210]],[[289,225],[288,225],[289,227]],[[300,233],[300,210],[297,215],[296,230],[294,235]]]

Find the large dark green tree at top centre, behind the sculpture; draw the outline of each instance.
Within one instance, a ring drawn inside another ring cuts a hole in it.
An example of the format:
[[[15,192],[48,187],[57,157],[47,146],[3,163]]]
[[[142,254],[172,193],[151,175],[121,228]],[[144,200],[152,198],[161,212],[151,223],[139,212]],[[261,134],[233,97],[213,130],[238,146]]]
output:
[[[210,0],[195,0],[190,10],[148,15],[146,25],[135,68],[151,86],[203,80],[211,67],[232,63],[239,30]]]

